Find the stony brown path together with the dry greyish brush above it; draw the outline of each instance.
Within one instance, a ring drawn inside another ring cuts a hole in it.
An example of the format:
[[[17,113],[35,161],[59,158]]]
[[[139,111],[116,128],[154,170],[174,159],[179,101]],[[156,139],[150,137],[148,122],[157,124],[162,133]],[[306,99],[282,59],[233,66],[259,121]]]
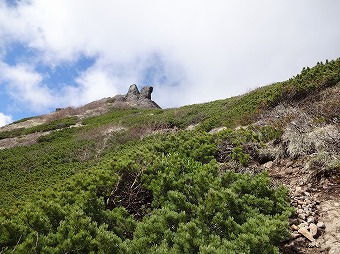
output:
[[[340,254],[339,85],[285,101],[256,123],[283,131],[262,151],[273,160],[262,167],[289,188],[296,209],[282,253]]]

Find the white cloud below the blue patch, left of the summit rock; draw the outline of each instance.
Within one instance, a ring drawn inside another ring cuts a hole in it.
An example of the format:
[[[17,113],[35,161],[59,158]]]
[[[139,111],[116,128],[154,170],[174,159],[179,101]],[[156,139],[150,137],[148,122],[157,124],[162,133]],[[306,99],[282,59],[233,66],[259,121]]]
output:
[[[130,81],[131,82],[131,81]],[[114,77],[104,69],[90,68],[74,86],[48,87],[44,77],[31,66],[9,66],[0,62],[0,83],[8,95],[26,111],[43,113],[53,107],[80,106],[99,98],[117,94]]]

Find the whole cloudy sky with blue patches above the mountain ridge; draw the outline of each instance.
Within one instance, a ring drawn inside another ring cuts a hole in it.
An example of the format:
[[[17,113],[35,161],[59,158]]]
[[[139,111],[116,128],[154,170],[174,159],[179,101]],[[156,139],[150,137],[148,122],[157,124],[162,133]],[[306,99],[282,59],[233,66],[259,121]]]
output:
[[[177,107],[340,57],[338,0],[0,0],[0,126],[154,86]]]

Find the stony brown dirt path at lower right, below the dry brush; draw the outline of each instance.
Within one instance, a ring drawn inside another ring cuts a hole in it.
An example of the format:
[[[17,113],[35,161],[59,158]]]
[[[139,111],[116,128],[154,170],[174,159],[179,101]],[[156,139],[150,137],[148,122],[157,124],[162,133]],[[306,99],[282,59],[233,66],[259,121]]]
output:
[[[284,254],[340,253],[340,171],[315,172],[309,157],[282,159],[263,167],[286,185],[296,214],[291,219],[291,238],[282,244]]]

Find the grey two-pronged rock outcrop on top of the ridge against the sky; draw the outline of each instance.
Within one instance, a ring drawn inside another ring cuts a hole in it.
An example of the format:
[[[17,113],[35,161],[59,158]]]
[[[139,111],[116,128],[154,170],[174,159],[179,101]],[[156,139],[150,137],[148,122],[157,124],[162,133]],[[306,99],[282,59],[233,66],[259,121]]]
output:
[[[114,107],[131,107],[131,108],[160,108],[153,100],[151,93],[153,87],[145,86],[139,92],[138,87],[133,84],[130,86],[126,95],[116,95],[113,97]]]

